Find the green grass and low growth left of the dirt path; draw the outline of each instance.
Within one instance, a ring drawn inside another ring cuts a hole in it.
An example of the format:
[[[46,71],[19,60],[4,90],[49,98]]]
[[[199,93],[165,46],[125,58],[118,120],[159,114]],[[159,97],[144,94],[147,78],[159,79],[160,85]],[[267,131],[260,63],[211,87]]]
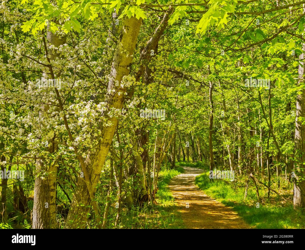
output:
[[[183,168],[177,166],[174,169],[170,169],[170,165],[162,167],[159,172],[158,188],[156,193],[156,202],[154,204],[145,203],[142,208],[139,206],[133,206],[132,208],[122,207],[120,213],[120,222],[118,228],[133,228],[133,229],[156,229],[156,228],[183,228],[183,221],[176,206],[174,206],[174,197],[168,189],[170,180],[183,172]],[[101,204],[105,204],[105,201],[100,201]],[[102,208],[101,208],[102,209]],[[103,214],[103,213],[102,213]],[[113,206],[109,208],[108,225],[107,228],[114,228],[116,220],[117,209]],[[57,221],[59,227],[63,228],[64,219],[62,216],[57,215]],[[12,223],[4,224],[0,223],[1,228],[30,228],[30,224],[24,220],[19,225]],[[91,227],[96,228],[95,219],[91,221]]]

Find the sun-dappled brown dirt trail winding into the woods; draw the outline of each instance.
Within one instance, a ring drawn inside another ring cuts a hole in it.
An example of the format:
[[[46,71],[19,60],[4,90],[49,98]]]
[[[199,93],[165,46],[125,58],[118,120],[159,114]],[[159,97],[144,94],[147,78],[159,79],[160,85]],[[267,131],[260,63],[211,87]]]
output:
[[[185,172],[175,176],[169,188],[179,207],[186,228],[249,228],[231,208],[212,199],[195,185],[202,169],[183,167]],[[186,205],[189,208],[186,208]]]

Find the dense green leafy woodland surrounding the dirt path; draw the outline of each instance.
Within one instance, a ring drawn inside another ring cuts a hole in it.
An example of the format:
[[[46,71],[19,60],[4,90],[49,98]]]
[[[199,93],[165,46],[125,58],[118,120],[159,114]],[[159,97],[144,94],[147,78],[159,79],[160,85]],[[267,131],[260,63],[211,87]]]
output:
[[[181,227],[166,184],[191,165],[249,224],[304,228],[304,16],[296,0],[2,0],[1,170],[24,180],[2,174],[0,227]]]

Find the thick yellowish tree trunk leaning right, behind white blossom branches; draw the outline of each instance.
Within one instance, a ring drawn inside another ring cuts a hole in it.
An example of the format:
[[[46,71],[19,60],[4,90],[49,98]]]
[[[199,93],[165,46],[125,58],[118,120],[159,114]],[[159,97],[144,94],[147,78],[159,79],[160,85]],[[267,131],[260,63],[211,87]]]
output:
[[[107,97],[107,101],[110,100],[108,111],[111,109],[122,109],[123,107],[126,89],[121,88],[120,83],[123,77],[129,74],[129,67],[131,66],[132,55],[135,50],[141,23],[142,20],[138,20],[135,17],[131,17],[124,21],[113,58],[110,80],[108,83],[108,91],[115,90],[114,93],[112,92]],[[119,86],[115,85],[116,81],[119,82]],[[102,128],[98,147],[91,152],[86,159],[87,171],[94,193],[118,122],[117,117],[108,118],[112,125]],[[84,181],[79,177],[66,220],[66,228],[84,228],[87,223],[87,214],[89,211],[90,197],[88,189]]]

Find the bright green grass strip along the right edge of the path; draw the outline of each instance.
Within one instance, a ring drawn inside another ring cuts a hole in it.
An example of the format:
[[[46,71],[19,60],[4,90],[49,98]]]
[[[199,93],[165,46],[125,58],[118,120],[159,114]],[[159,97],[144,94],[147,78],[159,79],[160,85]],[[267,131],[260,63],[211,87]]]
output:
[[[232,183],[224,179],[211,182],[209,172],[205,172],[196,177],[195,183],[210,197],[232,207],[253,228],[305,228],[305,216],[293,210],[292,202],[286,203],[275,194],[267,200],[264,189],[260,189],[260,197],[263,201],[257,208],[253,184],[248,189],[247,198],[243,200],[246,179],[239,178],[240,176],[235,176],[235,181]]]

